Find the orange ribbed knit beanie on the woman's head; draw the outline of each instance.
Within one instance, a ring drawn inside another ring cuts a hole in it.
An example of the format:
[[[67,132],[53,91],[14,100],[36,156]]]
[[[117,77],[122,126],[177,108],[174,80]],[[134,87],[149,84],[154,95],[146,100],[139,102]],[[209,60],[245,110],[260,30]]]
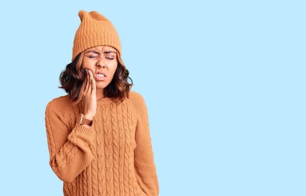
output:
[[[94,47],[107,45],[118,50],[121,57],[121,43],[115,26],[103,15],[96,11],[79,11],[81,24],[75,33],[72,60],[82,51]]]

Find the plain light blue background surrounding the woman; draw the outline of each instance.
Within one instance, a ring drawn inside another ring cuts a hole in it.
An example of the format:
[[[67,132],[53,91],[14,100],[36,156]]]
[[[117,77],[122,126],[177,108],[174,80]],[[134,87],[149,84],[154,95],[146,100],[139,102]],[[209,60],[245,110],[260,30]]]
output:
[[[1,3],[1,195],[63,195],[44,112],[79,10],[116,27],[168,195],[306,195],[304,1]]]

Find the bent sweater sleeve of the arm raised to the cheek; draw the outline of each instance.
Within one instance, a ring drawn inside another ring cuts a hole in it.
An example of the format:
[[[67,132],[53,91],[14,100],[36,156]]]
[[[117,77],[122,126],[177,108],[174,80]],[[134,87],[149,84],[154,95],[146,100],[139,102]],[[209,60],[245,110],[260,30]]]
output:
[[[75,179],[92,161],[95,132],[80,124],[69,130],[67,109],[50,101],[45,111],[45,126],[49,150],[49,164],[65,182]],[[71,120],[71,119],[70,119]]]

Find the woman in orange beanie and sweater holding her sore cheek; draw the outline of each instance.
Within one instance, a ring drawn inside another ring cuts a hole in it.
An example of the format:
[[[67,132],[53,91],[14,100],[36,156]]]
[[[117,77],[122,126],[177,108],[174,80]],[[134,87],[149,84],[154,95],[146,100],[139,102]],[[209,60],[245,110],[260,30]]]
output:
[[[60,75],[68,94],[46,106],[49,164],[64,195],[157,196],[147,108],[130,91],[115,27],[96,11],[79,17],[72,62]]]

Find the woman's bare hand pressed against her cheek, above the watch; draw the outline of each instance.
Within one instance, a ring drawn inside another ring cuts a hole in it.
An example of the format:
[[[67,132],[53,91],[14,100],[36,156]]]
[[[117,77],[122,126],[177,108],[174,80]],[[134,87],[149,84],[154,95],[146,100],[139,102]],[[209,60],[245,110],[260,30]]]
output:
[[[96,86],[93,74],[89,69],[86,70],[86,87],[83,93],[84,98],[84,116],[86,119],[92,120],[97,111]]]

